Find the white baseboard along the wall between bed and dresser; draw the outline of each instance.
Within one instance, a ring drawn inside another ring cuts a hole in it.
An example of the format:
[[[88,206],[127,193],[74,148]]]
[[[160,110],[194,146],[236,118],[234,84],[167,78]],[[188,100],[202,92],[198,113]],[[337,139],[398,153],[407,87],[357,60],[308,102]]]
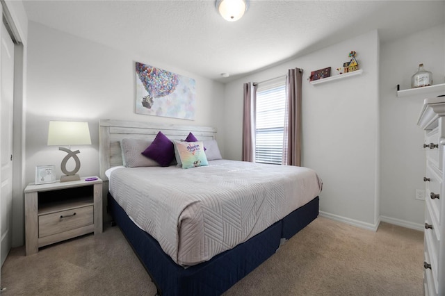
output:
[[[331,213],[326,213],[326,212],[323,212],[323,211],[320,211],[318,213],[318,215],[320,215],[321,217],[325,217],[327,219],[330,219],[330,220],[343,222],[343,223],[346,223],[346,224],[350,224],[350,225],[353,225],[353,226],[356,226],[356,227],[360,227],[360,228],[368,229],[368,230],[372,230],[372,231],[377,231],[378,225],[380,224],[380,222],[386,222],[386,223],[389,223],[389,224],[394,224],[394,225],[397,225],[397,226],[401,226],[401,227],[405,227],[405,228],[409,228],[409,229],[414,229],[414,230],[419,230],[419,231],[423,231],[424,230],[423,224],[409,222],[409,221],[400,220],[400,219],[391,218],[391,217],[386,217],[386,216],[380,216],[378,221],[375,224],[371,224],[371,223],[366,223],[366,222],[350,219],[350,218],[347,218],[347,217],[343,217],[343,216],[339,216],[339,215],[335,215],[335,214],[331,214]]]

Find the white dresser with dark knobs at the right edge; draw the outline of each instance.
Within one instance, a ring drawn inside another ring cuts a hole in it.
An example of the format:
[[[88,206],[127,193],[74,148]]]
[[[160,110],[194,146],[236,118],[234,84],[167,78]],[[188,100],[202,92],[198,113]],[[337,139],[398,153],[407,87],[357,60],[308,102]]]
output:
[[[425,130],[425,295],[445,295],[445,97],[425,99],[417,124]]]

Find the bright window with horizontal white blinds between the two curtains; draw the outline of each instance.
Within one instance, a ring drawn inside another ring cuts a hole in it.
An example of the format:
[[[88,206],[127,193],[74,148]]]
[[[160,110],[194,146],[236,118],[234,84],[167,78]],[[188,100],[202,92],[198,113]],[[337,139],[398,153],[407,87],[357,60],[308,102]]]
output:
[[[255,162],[281,165],[286,78],[260,83],[255,113]]]

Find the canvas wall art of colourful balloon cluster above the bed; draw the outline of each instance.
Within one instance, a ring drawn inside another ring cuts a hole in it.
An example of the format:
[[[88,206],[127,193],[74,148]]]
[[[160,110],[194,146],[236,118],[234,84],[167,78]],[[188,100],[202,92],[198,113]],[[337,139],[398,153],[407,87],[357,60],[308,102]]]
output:
[[[195,79],[136,62],[136,113],[195,119]]]

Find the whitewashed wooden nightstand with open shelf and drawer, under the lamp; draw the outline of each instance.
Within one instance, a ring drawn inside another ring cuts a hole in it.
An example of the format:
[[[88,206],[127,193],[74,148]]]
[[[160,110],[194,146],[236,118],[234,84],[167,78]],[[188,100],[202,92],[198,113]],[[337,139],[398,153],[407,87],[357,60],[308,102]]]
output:
[[[103,231],[102,180],[99,178],[31,183],[24,193],[26,255],[55,242]]]

